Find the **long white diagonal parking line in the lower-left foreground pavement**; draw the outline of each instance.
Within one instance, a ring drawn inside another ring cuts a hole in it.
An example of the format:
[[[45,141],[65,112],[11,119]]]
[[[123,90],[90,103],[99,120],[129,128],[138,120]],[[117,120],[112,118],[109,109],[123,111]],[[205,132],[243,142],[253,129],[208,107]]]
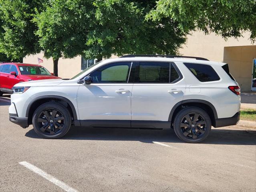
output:
[[[59,186],[60,188],[62,188],[63,190],[65,190],[67,192],[77,192],[77,190],[73,189],[72,187],[68,186],[67,184],[61,182],[60,180],[54,178],[53,176],[51,176],[51,175],[47,174],[46,172],[44,172],[43,170],[41,170],[40,168],[38,168],[26,161],[19,162],[19,164],[21,164],[24,167],[28,168],[29,170],[35,172],[36,174],[42,176],[43,178],[54,183],[55,185]]]

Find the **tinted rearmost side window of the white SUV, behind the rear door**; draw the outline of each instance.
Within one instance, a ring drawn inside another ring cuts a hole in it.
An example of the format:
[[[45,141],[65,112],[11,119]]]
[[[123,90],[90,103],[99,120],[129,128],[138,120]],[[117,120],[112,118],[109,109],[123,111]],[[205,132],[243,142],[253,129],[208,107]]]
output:
[[[200,80],[201,82],[218,81],[220,77],[210,65],[197,63],[184,63],[184,65]]]

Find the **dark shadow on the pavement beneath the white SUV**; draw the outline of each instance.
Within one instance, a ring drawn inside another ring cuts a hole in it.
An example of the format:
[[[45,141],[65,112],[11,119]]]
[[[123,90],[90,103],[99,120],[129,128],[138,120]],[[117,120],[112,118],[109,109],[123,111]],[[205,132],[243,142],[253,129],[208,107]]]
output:
[[[25,136],[40,138],[33,129]],[[85,128],[72,126],[69,132],[62,137],[64,140],[119,140],[140,141],[144,143],[154,142],[183,142],[177,138],[173,129],[165,130],[140,130],[123,128]],[[226,144],[226,145],[255,145],[256,130],[228,130],[212,129],[210,135],[202,144]]]

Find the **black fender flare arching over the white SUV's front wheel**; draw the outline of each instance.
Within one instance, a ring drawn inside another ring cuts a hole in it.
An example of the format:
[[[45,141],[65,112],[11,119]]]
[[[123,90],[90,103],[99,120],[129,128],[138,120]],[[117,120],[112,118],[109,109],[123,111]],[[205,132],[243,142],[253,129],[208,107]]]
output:
[[[67,102],[67,103],[69,104],[69,106],[71,107],[71,110],[72,110],[72,112],[73,112],[74,120],[77,120],[77,112],[76,112],[76,110],[75,110],[75,107],[74,107],[73,103],[72,103],[69,99],[67,99],[67,98],[65,98],[65,97],[56,96],[56,95],[46,95],[46,96],[40,96],[40,97],[34,98],[34,99],[30,102],[30,104],[28,105],[28,108],[27,108],[27,110],[26,110],[26,117],[28,117],[30,108],[31,108],[31,106],[32,106],[32,104],[33,104],[34,102],[36,102],[37,100],[40,100],[40,99],[47,99],[47,98],[49,98],[49,99],[50,99],[50,98],[52,98],[52,99],[60,99],[60,100],[63,100],[63,101],[65,101],[65,102]]]

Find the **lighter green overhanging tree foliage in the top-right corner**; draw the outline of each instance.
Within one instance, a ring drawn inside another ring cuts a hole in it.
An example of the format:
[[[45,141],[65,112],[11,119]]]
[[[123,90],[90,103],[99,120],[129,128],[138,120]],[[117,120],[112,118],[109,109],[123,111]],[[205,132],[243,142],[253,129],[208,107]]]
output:
[[[162,18],[179,22],[183,32],[198,28],[228,38],[250,31],[256,40],[256,0],[159,0],[147,19]]]

